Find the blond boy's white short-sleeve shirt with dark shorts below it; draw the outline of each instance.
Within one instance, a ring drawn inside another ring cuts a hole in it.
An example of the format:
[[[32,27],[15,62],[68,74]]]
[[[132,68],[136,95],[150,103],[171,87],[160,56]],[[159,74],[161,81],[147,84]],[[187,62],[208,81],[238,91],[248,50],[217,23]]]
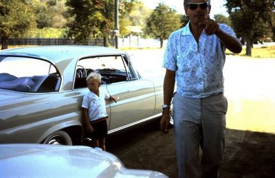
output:
[[[84,96],[81,107],[89,110],[90,121],[99,120],[108,116],[105,106],[105,99],[109,98],[109,93],[101,90],[99,97],[91,91]]]

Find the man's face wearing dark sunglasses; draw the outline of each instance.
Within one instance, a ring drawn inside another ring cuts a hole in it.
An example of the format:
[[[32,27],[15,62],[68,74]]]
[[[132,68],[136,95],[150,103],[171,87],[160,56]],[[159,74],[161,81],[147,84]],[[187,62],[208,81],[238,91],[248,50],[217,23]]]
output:
[[[186,15],[189,16],[191,23],[199,25],[204,23],[206,17],[210,13],[211,6],[206,0],[191,0],[188,3],[188,7],[184,7]]]

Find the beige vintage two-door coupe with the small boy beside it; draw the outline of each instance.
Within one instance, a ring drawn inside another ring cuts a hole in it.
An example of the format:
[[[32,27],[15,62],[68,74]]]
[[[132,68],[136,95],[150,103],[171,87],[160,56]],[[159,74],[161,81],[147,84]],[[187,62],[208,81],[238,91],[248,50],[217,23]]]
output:
[[[142,78],[119,49],[6,49],[0,52],[0,144],[80,144],[81,104],[91,71],[102,76],[100,90],[118,98],[106,104],[109,134],[161,115],[163,78]]]

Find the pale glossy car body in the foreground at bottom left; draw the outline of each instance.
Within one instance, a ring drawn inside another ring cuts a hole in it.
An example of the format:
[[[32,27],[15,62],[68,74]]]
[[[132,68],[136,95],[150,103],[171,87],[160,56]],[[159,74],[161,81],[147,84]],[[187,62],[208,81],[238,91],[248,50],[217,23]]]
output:
[[[1,177],[166,177],[126,169],[120,160],[88,146],[0,144]]]

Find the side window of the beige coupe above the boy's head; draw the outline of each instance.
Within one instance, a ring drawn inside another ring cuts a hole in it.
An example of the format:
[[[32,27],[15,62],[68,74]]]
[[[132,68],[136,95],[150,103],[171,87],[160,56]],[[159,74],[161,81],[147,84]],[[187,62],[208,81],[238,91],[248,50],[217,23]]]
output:
[[[135,72],[126,56],[96,56],[78,61],[74,89],[87,87],[85,78],[91,71],[102,76],[102,84],[135,80]]]

